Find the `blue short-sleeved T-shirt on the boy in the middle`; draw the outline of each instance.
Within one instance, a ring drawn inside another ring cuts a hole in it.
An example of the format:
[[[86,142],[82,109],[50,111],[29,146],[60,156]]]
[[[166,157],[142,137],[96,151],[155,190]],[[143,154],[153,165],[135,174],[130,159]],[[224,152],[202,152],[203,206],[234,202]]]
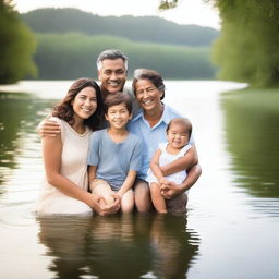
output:
[[[97,166],[96,178],[106,180],[119,190],[126,179],[129,170],[142,169],[142,143],[132,133],[121,143],[116,143],[108,130],[92,134],[87,165]]]

